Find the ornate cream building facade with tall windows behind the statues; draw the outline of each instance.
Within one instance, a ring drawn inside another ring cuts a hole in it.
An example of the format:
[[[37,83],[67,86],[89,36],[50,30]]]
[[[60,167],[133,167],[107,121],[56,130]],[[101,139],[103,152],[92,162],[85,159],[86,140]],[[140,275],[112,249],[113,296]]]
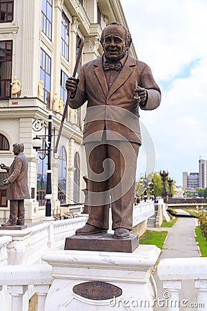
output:
[[[103,28],[112,21],[126,25],[126,19],[119,0],[0,0],[0,11],[0,162],[10,165],[12,144],[23,142],[29,162],[26,221],[36,222],[45,214],[47,155],[32,149],[32,140],[48,133],[52,111],[52,147],[55,144],[79,38],[84,38],[81,66],[101,55]],[[130,53],[136,57],[133,46]],[[85,109],[68,109],[58,153],[52,156],[52,210],[84,201]],[[43,122],[38,133],[35,120]],[[9,214],[5,178],[0,169],[0,221]]]

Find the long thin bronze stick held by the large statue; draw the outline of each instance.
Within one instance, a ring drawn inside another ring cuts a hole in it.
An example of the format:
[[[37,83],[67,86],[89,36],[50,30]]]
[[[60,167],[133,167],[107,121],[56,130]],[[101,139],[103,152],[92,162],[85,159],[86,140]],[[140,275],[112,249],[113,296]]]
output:
[[[79,39],[79,43],[78,43],[78,46],[77,46],[77,48],[79,48],[79,53],[77,55],[77,60],[76,60],[76,63],[75,63],[75,68],[74,68],[73,73],[72,73],[72,77],[75,77],[75,75],[77,73],[77,68],[79,66],[79,60],[81,59],[81,52],[82,52],[82,49],[83,49],[83,43],[84,43],[84,38],[81,37]],[[70,100],[70,95],[71,95],[71,91],[69,90],[68,91],[67,100],[66,100],[66,105],[65,105],[65,108],[64,108],[64,111],[63,111],[63,117],[62,117],[62,120],[61,120],[61,124],[59,126],[59,133],[57,135],[57,141],[56,141],[56,144],[55,144],[55,149],[53,151],[54,153],[57,153],[57,148],[58,148],[59,140],[61,138],[61,132],[62,132],[62,129],[63,129],[63,122],[65,121],[66,114],[68,112],[68,104],[69,104],[69,100]]]

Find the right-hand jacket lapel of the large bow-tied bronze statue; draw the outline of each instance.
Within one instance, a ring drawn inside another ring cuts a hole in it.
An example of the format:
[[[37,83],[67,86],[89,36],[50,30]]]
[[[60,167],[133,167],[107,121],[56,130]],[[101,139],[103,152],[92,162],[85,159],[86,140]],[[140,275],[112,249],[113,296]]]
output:
[[[117,79],[115,79],[115,82],[112,84],[108,92],[108,97],[110,97],[113,93],[115,93],[117,89],[120,88],[120,86],[126,82],[128,77],[132,74],[133,71],[132,67],[135,66],[135,64],[136,64],[135,59],[133,59],[132,57],[130,57],[130,55],[128,55],[126,63],[124,64]]]

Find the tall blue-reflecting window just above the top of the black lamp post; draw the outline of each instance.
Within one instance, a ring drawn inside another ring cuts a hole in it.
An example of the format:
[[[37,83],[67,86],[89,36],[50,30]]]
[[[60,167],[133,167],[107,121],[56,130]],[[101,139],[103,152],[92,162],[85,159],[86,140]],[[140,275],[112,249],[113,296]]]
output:
[[[42,49],[40,51],[40,80],[43,80],[43,102],[50,108],[51,58]]]

